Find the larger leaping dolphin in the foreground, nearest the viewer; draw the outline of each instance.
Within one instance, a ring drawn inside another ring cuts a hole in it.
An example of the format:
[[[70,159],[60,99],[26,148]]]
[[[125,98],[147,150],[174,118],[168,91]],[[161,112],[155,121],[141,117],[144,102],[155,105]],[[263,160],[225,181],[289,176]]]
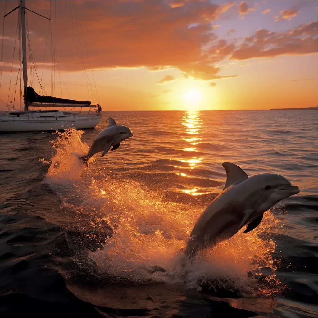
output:
[[[231,162],[224,162],[226,183],[222,192],[204,210],[190,233],[185,254],[197,252],[229,239],[244,225],[244,233],[254,230],[263,213],[280,200],[299,193],[299,188],[276,173],[248,176]]]

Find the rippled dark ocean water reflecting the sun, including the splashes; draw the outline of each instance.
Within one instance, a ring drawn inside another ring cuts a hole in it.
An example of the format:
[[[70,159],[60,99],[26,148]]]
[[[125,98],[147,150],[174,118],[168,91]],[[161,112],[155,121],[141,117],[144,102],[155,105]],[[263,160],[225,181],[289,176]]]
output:
[[[318,112],[102,116],[85,132],[0,135],[1,317],[318,315]],[[109,116],[134,136],[87,168],[78,156]],[[222,162],[279,173],[300,193],[187,262]]]

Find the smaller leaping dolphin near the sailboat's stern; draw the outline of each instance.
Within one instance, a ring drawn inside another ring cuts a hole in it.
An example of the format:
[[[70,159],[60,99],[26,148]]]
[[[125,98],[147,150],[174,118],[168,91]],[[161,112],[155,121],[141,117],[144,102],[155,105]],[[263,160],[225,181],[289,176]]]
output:
[[[81,160],[86,163],[86,165],[88,159],[97,152],[104,151],[101,155],[103,157],[107,154],[110,147],[113,146],[111,150],[115,150],[120,146],[122,141],[133,136],[133,133],[128,127],[117,125],[113,118],[109,117],[108,121],[108,127],[95,137],[87,155],[81,157]]]

